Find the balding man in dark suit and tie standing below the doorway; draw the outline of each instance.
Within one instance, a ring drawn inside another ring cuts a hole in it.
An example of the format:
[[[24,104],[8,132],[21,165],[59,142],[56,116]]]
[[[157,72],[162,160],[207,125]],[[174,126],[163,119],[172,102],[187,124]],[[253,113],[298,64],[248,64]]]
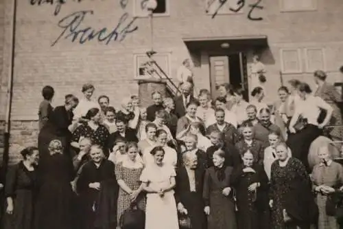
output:
[[[189,102],[198,101],[191,95],[191,91],[193,91],[191,83],[185,82],[181,85],[181,96],[175,98],[175,114],[178,118],[185,116]]]

